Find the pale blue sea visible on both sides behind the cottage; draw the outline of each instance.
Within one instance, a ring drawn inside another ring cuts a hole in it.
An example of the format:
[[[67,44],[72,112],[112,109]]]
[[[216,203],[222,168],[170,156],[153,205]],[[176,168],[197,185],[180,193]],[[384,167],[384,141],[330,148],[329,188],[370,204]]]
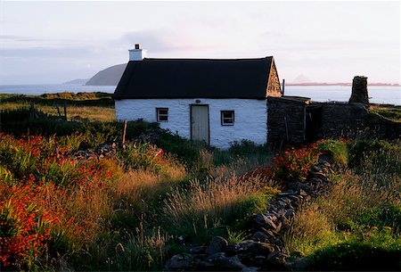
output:
[[[43,95],[61,92],[114,93],[115,86],[85,86],[79,84],[61,85],[0,85],[0,94]],[[368,87],[370,103],[401,105],[401,87]],[[284,95],[309,97],[315,102],[348,102],[351,96],[349,86],[286,86]]]

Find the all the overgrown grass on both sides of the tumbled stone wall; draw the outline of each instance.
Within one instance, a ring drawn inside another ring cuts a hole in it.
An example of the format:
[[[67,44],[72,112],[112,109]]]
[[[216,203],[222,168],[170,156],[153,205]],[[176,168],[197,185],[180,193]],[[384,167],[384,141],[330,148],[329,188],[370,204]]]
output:
[[[108,97],[1,98],[0,263],[10,270],[160,270],[214,235],[241,242],[250,215],[266,210],[289,177],[304,181],[316,160],[315,146],[274,156],[268,145],[220,151],[163,132],[156,143],[128,142],[115,157],[79,161],[70,153],[121,139]],[[87,108],[88,120],[58,120],[55,101],[68,101],[70,112]],[[37,119],[29,119],[31,102]],[[128,122],[127,139],[150,128],[158,126]],[[296,213],[284,234],[288,251],[306,256],[309,270],[398,269],[399,142],[317,148],[340,172],[330,194]]]

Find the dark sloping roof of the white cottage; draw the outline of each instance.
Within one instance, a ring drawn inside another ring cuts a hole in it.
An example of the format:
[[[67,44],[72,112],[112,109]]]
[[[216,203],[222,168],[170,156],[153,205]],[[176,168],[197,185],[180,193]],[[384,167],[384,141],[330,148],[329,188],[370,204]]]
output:
[[[274,59],[143,59],[128,62],[115,99],[266,98]]]

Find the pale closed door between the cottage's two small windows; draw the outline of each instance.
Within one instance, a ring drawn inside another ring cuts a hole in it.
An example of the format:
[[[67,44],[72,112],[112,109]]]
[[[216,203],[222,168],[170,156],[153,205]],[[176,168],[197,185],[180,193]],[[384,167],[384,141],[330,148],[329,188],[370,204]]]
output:
[[[191,105],[191,139],[209,144],[209,105]]]

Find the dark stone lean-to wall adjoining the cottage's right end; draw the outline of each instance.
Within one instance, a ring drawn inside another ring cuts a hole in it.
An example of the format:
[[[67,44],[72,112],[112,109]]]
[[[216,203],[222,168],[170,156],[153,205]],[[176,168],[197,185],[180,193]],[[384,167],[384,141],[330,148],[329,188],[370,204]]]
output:
[[[300,143],[305,141],[305,107],[302,97],[267,98],[268,142]]]

